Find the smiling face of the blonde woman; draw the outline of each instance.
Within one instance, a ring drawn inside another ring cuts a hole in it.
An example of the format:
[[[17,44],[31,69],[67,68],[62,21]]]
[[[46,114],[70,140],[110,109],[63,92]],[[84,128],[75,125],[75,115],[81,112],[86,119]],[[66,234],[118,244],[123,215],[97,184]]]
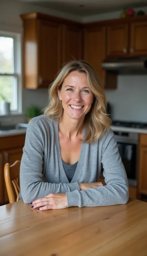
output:
[[[71,72],[64,80],[61,90],[58,89],[64,114],[72,119],[81,119],[91,109],[94,95],[91,92],[87,75],[78,71]]]

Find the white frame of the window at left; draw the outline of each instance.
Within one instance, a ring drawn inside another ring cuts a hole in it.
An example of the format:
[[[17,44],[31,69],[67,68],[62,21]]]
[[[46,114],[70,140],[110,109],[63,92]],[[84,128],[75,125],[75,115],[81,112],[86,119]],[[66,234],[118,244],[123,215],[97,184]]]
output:
[[[21,34],[14,33],[14,32],[6,32],[0,30],[1,37],[11,37],[13,38],[14,48],[14,72],[13,73],[0,73],[0,76],[13,76],[16,80],[16,94],[15,94],[15,101],[17,104],[17,110],[11,110],[11,114],[20,114],[22,113],[22,64],[21,64]],[[1,114],[0,114],[1,116]]]

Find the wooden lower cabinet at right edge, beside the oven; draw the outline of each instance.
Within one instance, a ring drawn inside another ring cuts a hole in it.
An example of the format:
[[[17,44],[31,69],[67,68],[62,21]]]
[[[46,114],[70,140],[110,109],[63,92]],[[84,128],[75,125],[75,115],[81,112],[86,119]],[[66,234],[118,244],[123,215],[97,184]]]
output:
[[[139,193],[147,195],[147,134],[139,137]]]

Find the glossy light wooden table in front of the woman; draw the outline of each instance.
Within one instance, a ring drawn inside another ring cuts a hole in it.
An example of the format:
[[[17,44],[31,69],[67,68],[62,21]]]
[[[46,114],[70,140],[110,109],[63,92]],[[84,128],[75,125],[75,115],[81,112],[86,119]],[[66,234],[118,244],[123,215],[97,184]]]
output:
[[[1,206],[0,255],[146,256],[147,203],[41,212],[23,201]]]

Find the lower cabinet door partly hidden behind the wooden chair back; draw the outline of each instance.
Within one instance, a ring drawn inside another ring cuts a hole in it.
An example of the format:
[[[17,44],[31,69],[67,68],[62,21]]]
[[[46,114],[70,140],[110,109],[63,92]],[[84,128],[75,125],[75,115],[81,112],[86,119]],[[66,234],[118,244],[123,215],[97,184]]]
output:
[[[4,157],[4,165],[6,163],[9,163],[12,165],[16,160],[21,160],[23,154],[23,149],[18,148],[18,149],[11,149],[3,152],[3,157]],[[7,204],[9,202],[8,195],[7,195],[7,189],[6,186],[4,185],[4,190],[3,190],[3,200],[4,204]]]

